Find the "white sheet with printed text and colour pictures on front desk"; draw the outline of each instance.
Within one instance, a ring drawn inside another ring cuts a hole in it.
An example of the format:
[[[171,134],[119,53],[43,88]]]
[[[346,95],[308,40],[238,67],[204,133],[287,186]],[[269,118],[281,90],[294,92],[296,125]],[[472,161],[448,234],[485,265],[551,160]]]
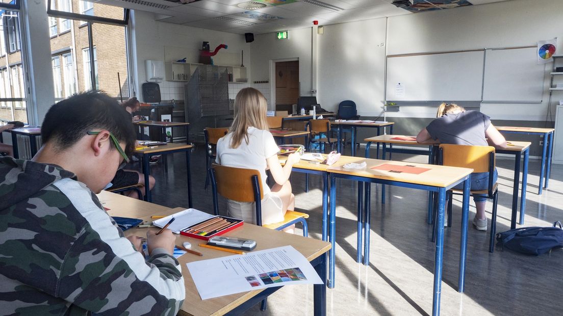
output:
[[[323,284],[299,251],[283,246],[187,263],[202,300],[267,287]]]

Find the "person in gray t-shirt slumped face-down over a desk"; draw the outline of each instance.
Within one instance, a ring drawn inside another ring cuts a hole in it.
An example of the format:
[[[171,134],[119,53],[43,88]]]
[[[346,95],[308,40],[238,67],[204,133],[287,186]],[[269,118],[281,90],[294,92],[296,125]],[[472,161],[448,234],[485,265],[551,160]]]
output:
[[[424,143],[430,139],[445,144],[472,145],[472,146],[494,146],[506,147],[506,139],[491,124],[489,116],[478,111],[466,111],[463,107],[442,103],[438,107],[437,119],[423,128],[417,135],[417,142]],[[497,181],[497,170],[494,170],[494,182]],[[471,189],[483,190],[489,186],[489,173],[472,173]],[[463,188],[463,184],[455,187]],[[487,219],[485,216],[486,197],[474,195],[477,214],[473,219],[473,225],[479,231],[487,230]]]

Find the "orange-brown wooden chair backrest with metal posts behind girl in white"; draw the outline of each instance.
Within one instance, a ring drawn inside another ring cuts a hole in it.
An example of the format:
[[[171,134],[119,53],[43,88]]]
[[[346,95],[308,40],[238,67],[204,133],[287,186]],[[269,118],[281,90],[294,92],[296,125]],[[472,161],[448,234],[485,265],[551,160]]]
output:
[[[229,200],[254,202],[256,224],[262,225],[262,197],[260,172],[254,169],[227,167],[218,164],[211,166],[211,187],[213,189],[213,210],[219,215],[217,193]]]

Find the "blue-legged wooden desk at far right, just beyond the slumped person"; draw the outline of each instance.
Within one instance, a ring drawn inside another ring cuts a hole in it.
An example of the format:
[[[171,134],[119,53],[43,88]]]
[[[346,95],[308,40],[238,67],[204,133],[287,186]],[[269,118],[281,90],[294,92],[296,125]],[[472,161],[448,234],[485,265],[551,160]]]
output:
[[[535,127],[496,127],[503,134],[528,134],[543,135],[542,146],[542,164],[539,168],[539,186],[538,195],[542,194],[542,188],[546,188],[549,183],[549,174],[551,173],[551,152],[553,151],[553,128],[535,128]],[[545,177],[545,183],[544,182]],[[543,184],[543,186],[542,186]]]

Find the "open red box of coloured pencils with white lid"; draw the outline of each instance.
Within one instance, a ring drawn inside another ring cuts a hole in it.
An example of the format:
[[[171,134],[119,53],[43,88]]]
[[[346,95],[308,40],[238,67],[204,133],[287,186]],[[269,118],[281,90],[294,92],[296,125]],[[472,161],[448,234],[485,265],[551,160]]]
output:
[[[164,227],[164,225],[166,225],[172,218],[175,218],[175,220],[168,226],[168,229],[172,232],[202,240],[209,240],[211,237],[232,231],[233,229],[242,226],[244,223],[242,219],[221,215],[215,216],[196,209],[187,209],[176,214],[166,216],[165,218],[155,220],[153,225],[156,227]],[[205,225],[207,222],[213,225]],[[221,222],[224,223],[226,227],[221,227],[224,226],[219,225]],[[191,229],[198,227],[201,229],[190,231]],[[210,230],[206,232],[202,230],[203,228],[209,228]]]

